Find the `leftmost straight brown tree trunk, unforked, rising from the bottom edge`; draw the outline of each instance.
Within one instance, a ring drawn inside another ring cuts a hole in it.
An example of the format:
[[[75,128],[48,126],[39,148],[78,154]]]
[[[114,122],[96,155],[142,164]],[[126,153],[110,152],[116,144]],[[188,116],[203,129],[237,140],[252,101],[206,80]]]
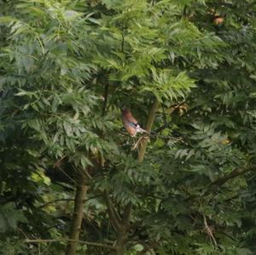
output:
[[[74,200],[73,208],[73,221],[70,229],[69,241],[66,248],[66,255],[75,255],[79,241],[79,234],[81,230],[81,223],[84,214],[84,198],[87,192],[88,186],[85,185],[83,174],[81,174],[81,180],[76,187],[76,197]]]

